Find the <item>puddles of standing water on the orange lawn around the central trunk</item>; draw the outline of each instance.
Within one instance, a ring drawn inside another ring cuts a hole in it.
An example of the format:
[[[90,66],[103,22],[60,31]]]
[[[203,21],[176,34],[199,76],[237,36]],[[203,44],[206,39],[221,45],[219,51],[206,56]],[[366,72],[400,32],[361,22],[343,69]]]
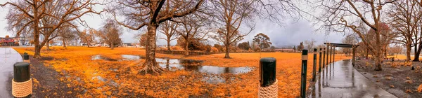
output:
[[[122,55],[120,60],[138,60],[143,59],[144,57],[139,55]],[[92,60],[96,59],[105,59],[110,61],[110,58],[101,57],[101,55],[92,56]],[[252,67],[243,66],[243,67],[221,67],[221,66],[207,66],[201,65],[203,61],[193,60],[193,59],[168,59],[168,58],[155,58],[158,64],[164,68],[169,69],[170,71],[177,70],[187,70],[187,71],[198,71],[200,73],[207,73],[206,76],[202,79],[207,83],[226,83],[227,80],[234,80],[234,77],[222,77],[219,74],[222,73],[248,73],[252,71]],[[113,60],[117,61],[117,60]]]

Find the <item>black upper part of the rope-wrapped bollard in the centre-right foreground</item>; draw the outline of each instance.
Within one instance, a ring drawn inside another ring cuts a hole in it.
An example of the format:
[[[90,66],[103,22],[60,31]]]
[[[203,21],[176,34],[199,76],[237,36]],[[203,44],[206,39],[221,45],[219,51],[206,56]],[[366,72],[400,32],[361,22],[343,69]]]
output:
[[[267,87],[276,81],[276,59],[264,57],[260,59],[260,85]]]

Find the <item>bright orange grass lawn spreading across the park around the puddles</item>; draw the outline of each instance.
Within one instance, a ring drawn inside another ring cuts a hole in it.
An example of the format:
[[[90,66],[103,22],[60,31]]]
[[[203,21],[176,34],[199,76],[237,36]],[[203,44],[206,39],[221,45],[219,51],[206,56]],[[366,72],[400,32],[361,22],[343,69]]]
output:
[[[34,48],[15,48],[20,54],[28,52],[34,54]],[[92,61],[93,55],[102,55],[112,59],[122,59],[120,55],[145,55],[141,48],[87,48],[87,47],[52,47],[51,50],[42,50],[43,57],[52,57],[44,60],[45,66],[52,66],[63,76],[58,78],[68,86],[79,86],[84,93],[79,97],[257,97],[259,85],[259,60],[261,57],[275,57],[276,77],[279,80],[279,97],[297,97],[300,94],[300,53],[287,52],[248,52],[231,53],[231,59],[224,59],[224,54],[189,56],[165,55],[157,53],[157,57],[175,59],[204,60],[203,65],[212,66],[250,66],[253,68],[248,73],[229,74],[219,76],[235,77],[226,83],[205,83],[204,73],[196,71],[165,71],[160,75],[138,74],[142,61],[106,60]],[[335,60],[350,59],[335,55]],[[98,78],[106,79],[103,82]],[[309,54],[307,80],[312,77],[312,53]],[[36,78],[39,82],[39,78]],[[111,83],[113,81],[113,83]],[[117,84],[112,85],[112,84]],[[309,86],[309,84],[307,84]],[[35,87],[42,87],[38,85]]]

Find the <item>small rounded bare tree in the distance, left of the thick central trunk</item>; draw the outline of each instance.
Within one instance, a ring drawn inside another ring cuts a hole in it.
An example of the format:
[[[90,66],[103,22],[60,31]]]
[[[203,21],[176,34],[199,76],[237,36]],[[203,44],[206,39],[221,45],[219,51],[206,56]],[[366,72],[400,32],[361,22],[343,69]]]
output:
[[[114,49],[115,45],[122,43],[122,38],[120,38],[120,35],[122,35],[121,29],[111,19],[106,20],[101,30],[96,33],[96,36],[100,37],[103,43],[110,45],[111,50]]]

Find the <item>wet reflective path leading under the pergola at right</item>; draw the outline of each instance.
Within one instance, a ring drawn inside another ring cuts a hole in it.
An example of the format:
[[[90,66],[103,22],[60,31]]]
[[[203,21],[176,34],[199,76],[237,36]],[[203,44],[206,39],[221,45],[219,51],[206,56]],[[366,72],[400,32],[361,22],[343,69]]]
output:
[[[396,98],[376,86],[352,66],[350,59],[329,64],[321,72],[312,98]]]

